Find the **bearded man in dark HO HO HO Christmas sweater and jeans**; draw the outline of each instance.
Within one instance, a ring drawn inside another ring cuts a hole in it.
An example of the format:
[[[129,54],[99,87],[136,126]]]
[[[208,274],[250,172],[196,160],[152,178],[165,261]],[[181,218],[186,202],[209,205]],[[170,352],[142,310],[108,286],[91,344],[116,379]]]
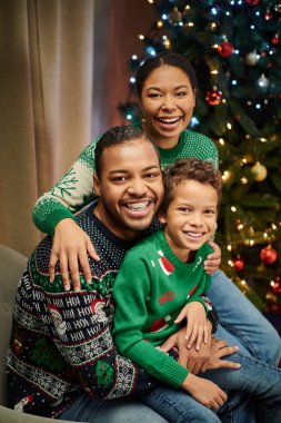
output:
[[[59,267],[54,282],[49,281],[51,238],[33,252],[17,292],[8,352],[10,406],[83,422],[163,422],[149,407],[118,399],[147,391],[153,381],[117,353],[110,333],[117,272],[162,201],[158,150],[138,128],[112,128],[97,145],[96,169],[98,203],[77,216],[77,223],[101,260],[89,258],[90,285],[81,275],[82,289],[66,293]],[[213,323],[212,313],[210,318]],[[182,341],[178,344],[181,352]],[[210,366],[235,368],[234,363],[220,362],[234,351],[220,344]]]

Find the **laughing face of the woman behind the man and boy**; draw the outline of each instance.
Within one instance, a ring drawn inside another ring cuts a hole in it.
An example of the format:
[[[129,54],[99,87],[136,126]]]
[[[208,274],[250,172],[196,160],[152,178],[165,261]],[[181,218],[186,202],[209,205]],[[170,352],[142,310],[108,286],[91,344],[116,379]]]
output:
[[[187,128],[195,106],[195,94],[188,75],[162,65],[145,79],[141,92],[142,127],[159,147],[173,148]]]

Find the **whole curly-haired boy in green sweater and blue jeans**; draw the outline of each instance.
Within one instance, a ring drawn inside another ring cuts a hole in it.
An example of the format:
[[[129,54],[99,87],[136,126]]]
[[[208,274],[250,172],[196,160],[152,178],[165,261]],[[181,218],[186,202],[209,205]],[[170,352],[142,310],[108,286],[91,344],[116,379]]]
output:
[[[163,229],[129,250],[117,276],[113,338],[119,352],[164,382],[141,400],[169,422],[220,422],[208,409],[227,401],[221,390],[253,394],[261,421],[281,419],[281,372],[237,353],[241,368],[195,376],[159,348],[187,317],[188,345],[205,340],[210,276],[202,263],[217,228],[221,178],[208,161],[182,159],[163,175]],[[273,381],[273,378],[274,381]],[[182,387],[183,391],[169,387]],[[267,385],[267,386],[265,386]],[[279,385],[279,386],[278,386]],[[219,387],[220,386],[220,387]],[[202,406],[202,405],[204,406]],[[225,404],[227,405],[227,404]]]

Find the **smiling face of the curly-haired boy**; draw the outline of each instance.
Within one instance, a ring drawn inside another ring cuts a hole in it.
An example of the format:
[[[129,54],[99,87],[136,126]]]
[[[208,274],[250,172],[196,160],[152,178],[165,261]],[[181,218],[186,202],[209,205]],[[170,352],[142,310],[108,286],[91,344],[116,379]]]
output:
[[[174,189],[165,216],[167,240],[177,257],[187,260],[214,233],[218,216],[218,194],[211,185],[185,180]]]

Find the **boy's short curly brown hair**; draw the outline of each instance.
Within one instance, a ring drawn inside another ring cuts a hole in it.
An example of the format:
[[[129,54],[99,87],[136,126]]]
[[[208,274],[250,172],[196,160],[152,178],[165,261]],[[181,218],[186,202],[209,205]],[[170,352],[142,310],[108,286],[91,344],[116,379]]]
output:
[[[207,160],[198,158],[179,159],[163,170],[164,199],[161,213],[165,214],[174,198],[174,190],[185,180],[195,180],[200,184],[211,185],[218,194],[218,210],[221,200],[221,174]]]

